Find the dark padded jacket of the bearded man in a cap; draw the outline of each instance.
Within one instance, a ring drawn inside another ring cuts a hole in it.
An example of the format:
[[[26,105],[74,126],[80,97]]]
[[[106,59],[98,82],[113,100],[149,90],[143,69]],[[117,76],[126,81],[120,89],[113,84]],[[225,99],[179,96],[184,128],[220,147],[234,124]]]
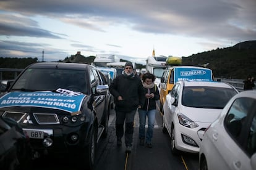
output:
[[[144,105],[145,91],[139,76],[119,75],[110,84],[109,91],[114,96],[117,111],[130,112]],[[117,100],[119,95],[122,100]]]

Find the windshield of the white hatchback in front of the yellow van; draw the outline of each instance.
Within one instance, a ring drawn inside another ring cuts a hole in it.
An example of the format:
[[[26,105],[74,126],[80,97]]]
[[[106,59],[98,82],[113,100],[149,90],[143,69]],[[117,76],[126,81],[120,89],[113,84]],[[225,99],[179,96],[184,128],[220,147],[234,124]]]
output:
[[[223,109],[237,92],[223,87],[184,87],[182,105],[196,108]]]

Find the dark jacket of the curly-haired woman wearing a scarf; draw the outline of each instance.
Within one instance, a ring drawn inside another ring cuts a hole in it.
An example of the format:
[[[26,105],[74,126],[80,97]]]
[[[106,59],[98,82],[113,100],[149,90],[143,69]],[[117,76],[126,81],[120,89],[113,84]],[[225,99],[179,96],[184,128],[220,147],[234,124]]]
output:
[[[145,87],[144,88],[144,94],[151,94],[153,93],[154,94],[154,97],[153,98],[150,98],[150,99],[145,99],[145,103],[142,107],[143,110],[152,110],[152,109],[156,109],[156,100],[159,100],[160,99],[160,94],[159,94],[159,91],[158,91],[158,87],[156,86],[155,84],[155,87],[152,87],[151,89],[147,89]]]

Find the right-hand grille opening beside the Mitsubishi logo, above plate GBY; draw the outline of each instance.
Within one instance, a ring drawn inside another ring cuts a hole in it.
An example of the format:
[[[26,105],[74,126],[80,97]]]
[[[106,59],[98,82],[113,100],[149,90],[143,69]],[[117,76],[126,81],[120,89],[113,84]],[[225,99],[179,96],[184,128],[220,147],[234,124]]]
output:
[[[55,113],[33,113],[38,124],[59,124],[59,118]]]

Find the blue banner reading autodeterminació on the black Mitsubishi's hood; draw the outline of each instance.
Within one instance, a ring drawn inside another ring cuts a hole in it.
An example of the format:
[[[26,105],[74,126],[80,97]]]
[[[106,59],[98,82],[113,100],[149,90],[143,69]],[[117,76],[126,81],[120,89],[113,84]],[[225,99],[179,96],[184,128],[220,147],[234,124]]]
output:
[[[56,92],[9,92],[0,98],[0,108],[4,107],[43,107],[79,111],[85,95],[70,95]]]

